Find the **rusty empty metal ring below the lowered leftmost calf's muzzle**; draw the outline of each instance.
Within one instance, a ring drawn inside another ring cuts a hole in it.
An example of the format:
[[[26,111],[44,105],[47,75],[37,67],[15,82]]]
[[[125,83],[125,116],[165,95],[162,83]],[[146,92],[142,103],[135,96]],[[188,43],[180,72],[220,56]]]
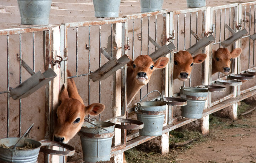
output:
[[[40,141],[42,143],[42,146],[58,146],[62,148],[66,148],[68,151],[56,151],[56,150],[51,150],[48,148],[41,147],[40,152],[47,153],[47,154],[54,154],[54,155],[59,155],[59,156],[73,156],[75,154],[75,148],[61,143],[61,142],[55,142],[55,141]]]

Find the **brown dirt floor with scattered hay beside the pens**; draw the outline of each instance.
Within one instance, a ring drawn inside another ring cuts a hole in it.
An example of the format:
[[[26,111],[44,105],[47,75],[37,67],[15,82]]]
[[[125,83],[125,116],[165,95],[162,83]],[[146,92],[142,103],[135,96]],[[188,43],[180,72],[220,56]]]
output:
[[[238,114],[254,108],[241,102]],[[177,129],[170,132],[170,151],[161,155],[141,151],[140,147],[125,152],[128,163],[256,163],[256,110],[238,120],[210,115],[207,136],[198,131]],[[192,141],[184,146],[183,142]],[[156,150],[155,150],[156,151]]]

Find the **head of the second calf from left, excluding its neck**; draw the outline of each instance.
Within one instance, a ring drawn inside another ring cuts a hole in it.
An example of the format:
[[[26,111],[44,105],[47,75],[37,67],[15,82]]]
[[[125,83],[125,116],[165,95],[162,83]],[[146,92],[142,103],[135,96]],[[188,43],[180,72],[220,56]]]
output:
[[[161,57],[155,62],[148,55],[139,55],[134,61],[130,61],[127,66],[130,68],[132,73],[130,75],[135,79],[137,85],[146,85],[152,72],[155,69],[164,68],[169,62],[169,58]]]

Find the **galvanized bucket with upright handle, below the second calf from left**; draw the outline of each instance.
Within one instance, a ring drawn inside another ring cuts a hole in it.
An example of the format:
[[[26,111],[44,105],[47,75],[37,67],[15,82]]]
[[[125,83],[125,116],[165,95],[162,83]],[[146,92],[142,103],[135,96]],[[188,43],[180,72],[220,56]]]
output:
[[[148,94],[146,94],[146,96]],[[142,100],[146,96],[144,96]],[[162,97],[161,93],[160,97]],[[142,100],[140,100],[139,103],[135,104],[135,112],[137,115],[137,119],[144,123],[143,129],[139,130],[139,134],[141,136],[161,136],[167,103],[162,101],[141,102]]]

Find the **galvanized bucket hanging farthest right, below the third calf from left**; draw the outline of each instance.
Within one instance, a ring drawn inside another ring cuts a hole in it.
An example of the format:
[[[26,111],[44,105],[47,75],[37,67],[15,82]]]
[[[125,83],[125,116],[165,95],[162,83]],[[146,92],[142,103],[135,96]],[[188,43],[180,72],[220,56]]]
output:
[[[181,116],[186,118],[202,118],[209,90],[205,88],[180,88],[180,97],[187,100],[187,105],[181,107]]]

